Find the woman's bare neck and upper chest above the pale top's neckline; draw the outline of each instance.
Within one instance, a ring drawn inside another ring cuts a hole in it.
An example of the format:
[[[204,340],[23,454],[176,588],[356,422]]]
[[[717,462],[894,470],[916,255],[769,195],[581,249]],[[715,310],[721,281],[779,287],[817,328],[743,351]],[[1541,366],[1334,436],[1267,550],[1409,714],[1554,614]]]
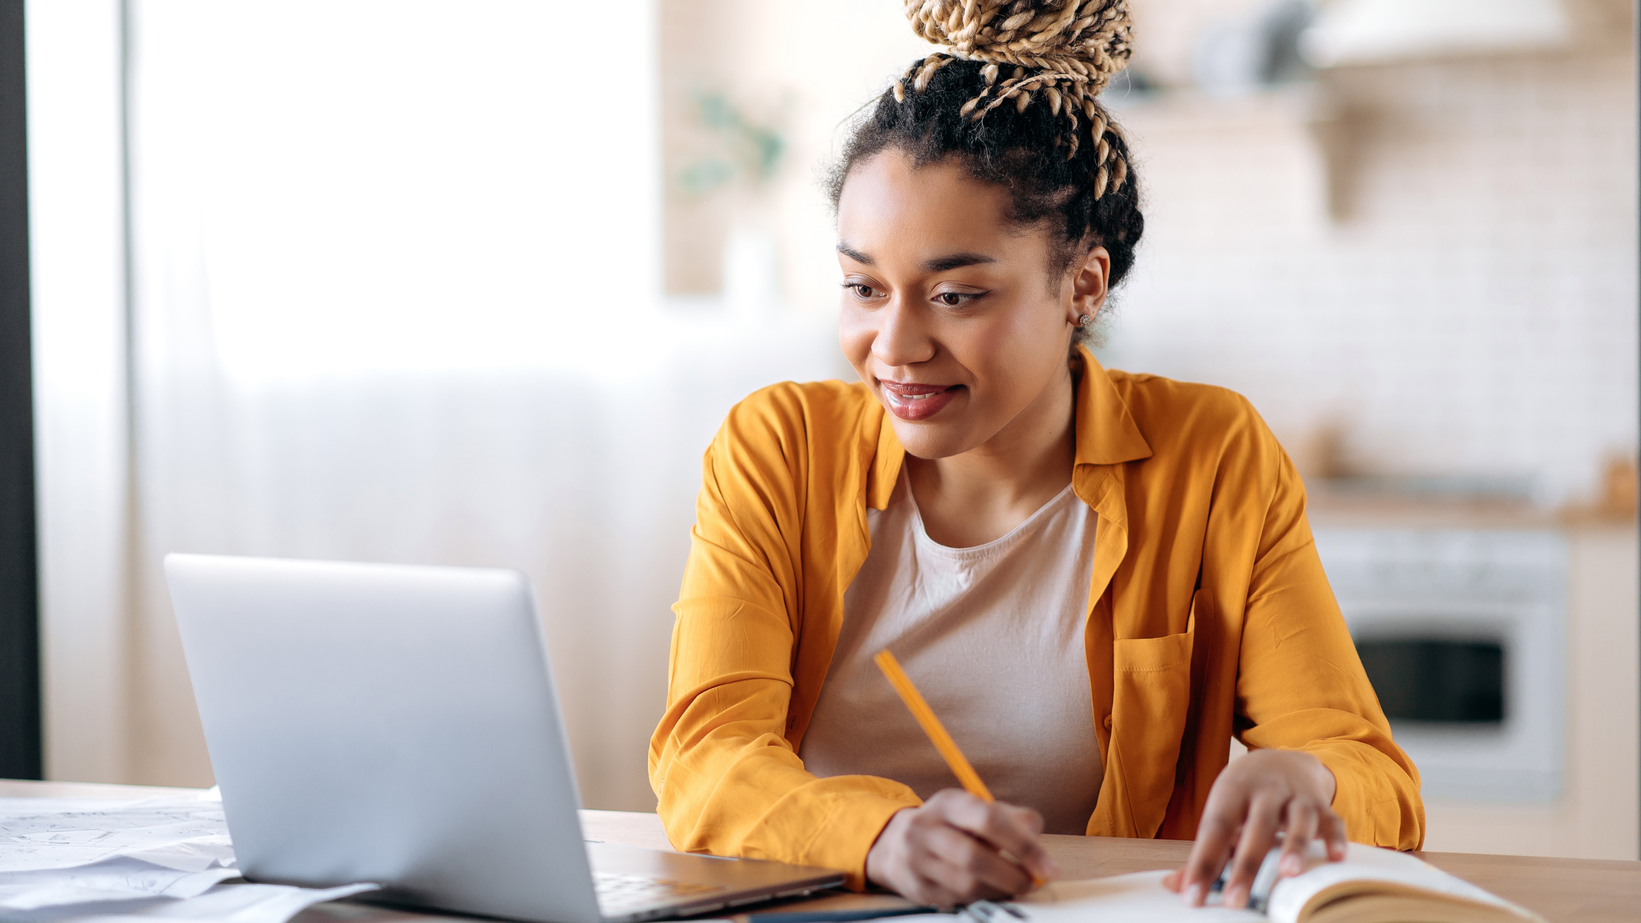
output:
[[[1070,368],[983,445],[948,458],[907,455],[929,537],[948,547],[1001,539],[1072,483],[1076,396]]]

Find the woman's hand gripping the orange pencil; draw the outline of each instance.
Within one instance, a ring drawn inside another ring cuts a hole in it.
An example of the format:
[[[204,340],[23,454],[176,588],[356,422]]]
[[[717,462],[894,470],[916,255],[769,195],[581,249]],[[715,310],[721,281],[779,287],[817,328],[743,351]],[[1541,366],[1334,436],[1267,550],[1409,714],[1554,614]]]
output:
[[[942,910],[1016,897],[1031,890],[1032,875],[1060,874],[1040,833],[1042,815],[1031,808],[942,788],[889,818],[866,854],[866,879]]]

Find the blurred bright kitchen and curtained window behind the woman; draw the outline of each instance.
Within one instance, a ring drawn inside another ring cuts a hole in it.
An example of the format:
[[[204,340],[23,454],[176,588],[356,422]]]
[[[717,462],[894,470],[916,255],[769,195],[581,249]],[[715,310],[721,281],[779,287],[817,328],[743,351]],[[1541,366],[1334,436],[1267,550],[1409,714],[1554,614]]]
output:
[[[1438,851],[1634,859],[1628,0],[1132,0],[1108,366],[1306,475]],[[729,406],[850,378],[819,176],[899,0],[31,0],[53,778],[208,785],[158,562],[515,567],[587,806],[653,810]]]

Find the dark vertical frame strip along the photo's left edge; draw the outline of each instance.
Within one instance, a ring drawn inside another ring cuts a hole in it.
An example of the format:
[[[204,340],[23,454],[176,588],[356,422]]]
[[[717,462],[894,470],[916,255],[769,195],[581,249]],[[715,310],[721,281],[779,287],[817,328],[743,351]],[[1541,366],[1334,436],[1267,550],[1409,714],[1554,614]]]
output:
[[[0,0],[0,778],[41,778],[23,0]]]

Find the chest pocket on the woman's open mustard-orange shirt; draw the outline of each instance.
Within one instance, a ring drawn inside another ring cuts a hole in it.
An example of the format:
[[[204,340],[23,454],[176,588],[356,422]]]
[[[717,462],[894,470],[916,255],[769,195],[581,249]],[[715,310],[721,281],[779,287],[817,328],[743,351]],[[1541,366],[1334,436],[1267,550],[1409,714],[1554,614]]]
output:
[[[1180,742],[1191,711],[1191,650],[1196,614],[1211,604],[1206,590],[1191,598],[1185,631],[1113,642],[1111,746],[1106,774],[1127,795],[1127,836],[1152,838],[1173,795]]]

